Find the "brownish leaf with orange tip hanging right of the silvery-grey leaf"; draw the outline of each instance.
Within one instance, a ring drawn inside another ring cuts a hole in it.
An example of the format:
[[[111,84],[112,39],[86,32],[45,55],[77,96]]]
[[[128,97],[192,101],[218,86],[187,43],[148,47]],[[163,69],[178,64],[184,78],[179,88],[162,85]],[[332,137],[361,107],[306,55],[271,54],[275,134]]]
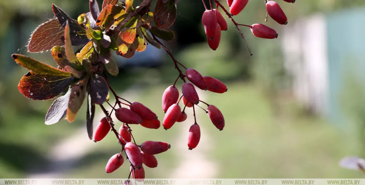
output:
[[[86,82],[87,80],[83,80],[79,84],[71,86],[71,95],[66,114],[66,119],[69,122],[73,122],[75,120],[77,112],[80,110],[81,105],[84,102],[86,96]]]

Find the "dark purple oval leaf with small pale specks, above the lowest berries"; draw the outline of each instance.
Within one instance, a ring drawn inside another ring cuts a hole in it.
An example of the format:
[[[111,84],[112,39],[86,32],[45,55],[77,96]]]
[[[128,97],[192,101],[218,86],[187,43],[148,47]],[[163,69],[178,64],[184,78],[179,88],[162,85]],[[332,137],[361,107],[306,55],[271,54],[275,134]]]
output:
[[[101,105],[107,100],[109,87],[107,81],[99,75],[90,78],[90,95],[93,103]]]

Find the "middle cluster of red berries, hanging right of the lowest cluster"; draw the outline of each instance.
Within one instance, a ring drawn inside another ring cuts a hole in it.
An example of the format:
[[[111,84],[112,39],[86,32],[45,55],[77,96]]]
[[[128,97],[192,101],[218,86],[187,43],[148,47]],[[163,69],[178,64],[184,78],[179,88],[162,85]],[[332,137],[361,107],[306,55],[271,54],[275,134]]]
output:
[[[191,82],[185,82],[185,77]],[[219,80],[212,78],[210,76],[202,76],[198,71],[187,68],[185,70],[185,75],[183,76],[183,86],[181,87],[181,91],[183,95],[179,99],[179,91],[177,87],[174,85],[166,88],[164,94],[162,95],[162,110],[164,110],[165,117],[162,121],[162,125],[165,130],[170,129],[174,123],[183,122],[187,119],[187,114],[185,113],[186,107],[193,107],[194,117],[195,117],[195,108],[199,102],[203,102],[199,99],[199,96],[195,90],[195,86],[200,88],[201,90],[208,90],[216,93],[223,93],[227,91],[227,86],[224,85]],[[195,85],[195,86],[194,86]],[[183,99],[184,109],[181,111],[179,106],[180,100]],[[205,103],[205,102],[203,102]],[[208,114],[208,117],[211,119],[212,123],[219,130],[223,130],[224,127],[224,118],[220,110],[214,105],[208,105],[205,112]],[[200,141],[200,127],[196,122],[189,129],[189,137],[188,137],[188,147],[189,150],[195,148]]]

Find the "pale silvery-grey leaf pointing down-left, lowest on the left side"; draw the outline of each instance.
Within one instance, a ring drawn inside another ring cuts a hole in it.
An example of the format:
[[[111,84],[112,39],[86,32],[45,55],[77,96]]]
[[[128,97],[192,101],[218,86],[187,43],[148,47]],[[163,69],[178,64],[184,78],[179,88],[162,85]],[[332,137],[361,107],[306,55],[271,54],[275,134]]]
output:
[[[48,109],[45,123],[46,125],[52,125],[61,121],[63,117],[65,117],[68,107],[68,102],[70,99],[71,88],[67,91],[67,93],[61,97],[58,97]]]

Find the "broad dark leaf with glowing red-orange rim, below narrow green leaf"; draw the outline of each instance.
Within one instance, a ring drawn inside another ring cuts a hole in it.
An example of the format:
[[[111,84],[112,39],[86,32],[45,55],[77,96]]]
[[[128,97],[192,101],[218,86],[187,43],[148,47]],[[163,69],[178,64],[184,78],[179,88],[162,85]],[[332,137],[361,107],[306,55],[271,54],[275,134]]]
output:
[[[18,89],[27,98],[47,100],[59,95],[73,79],[73,76],[40,75],[29,71],[20,79]]]

